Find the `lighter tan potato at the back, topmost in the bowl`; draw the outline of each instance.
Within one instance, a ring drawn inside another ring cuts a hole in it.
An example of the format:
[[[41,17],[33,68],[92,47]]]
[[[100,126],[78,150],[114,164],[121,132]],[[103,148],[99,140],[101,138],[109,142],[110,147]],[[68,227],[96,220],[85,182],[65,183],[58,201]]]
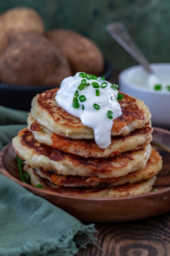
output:
[[[21,32],[35,31],[42,34],[44,24],[40,15],[31,8],[12,8],[0,15],[0,52],[10,40]]]

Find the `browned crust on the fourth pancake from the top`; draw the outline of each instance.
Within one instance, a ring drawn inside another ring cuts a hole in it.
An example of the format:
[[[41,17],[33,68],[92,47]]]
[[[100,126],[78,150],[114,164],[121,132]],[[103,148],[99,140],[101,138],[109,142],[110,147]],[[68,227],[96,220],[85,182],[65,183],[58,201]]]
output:
[[[142,170],[140,170],[140,174],[145,173],[147,171],[148,176],[145,179],[149,179],[154,177],[157,173],[158,170],[156,168],[154,168],[156,162],[160,161],[162,159],[162,157],[159,155],[159,152],[156,151],[155,149],[153,149],[152,154],[146,164],[146,167]],[[85,177],[85,176],[73,176],[73,175],[59,175],[56,174],[53,171],[48,171],[48,170],[44,170],[42,167],[40,168],[40,171],[42,172],[42,174],[48,176],[51,180],[52,183],[54,183],[55,185],[58,186],[62,186],[63,184],[65,184],[65,186],[67,184],[76,184],[76,183],[83,183],[83,184],[89,184],[90,187],[90,183],[95,181],[98,182],[99,185],[98,187],[108,187],[109,184],[111,183],[116,183],[119,182],[120,178],[122,177],[118,177],[118,178],[99,178],[99,177]],[[135,171],[132,173],[129,173],[125,176],[123,176],[124,179],[126,178],[135,178],[137,177],[139,171]],[[93,186],[94,187],[94,186]]]

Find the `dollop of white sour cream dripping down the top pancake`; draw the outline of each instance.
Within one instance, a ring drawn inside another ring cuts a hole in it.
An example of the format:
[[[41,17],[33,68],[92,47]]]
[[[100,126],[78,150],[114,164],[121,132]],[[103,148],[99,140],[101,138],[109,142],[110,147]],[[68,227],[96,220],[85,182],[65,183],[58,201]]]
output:
[[[77,72],[74,77],[67,77],[61,82],[55,100],[69,114],[80,118],[83,125],[94,130],[95,142],[100,148],[107,148],[111,144],[113,120],[122,115],[121,106],[116,100],[118,91],[112,89],[112,84],[109,82],[105,88],[93,88],[92,82],[97,82],[101,86],[106,81],[100,77],[88,80],[86,77],[80,77],[79,74]],[[81,84],[82,79],[86,79],[86,83],[90,83],[90,85],[85,85],[82,90],[79,90],[77,87]],[[99,96],[96,96],[96,89],[99,90]],[[84,95],[86,98],[84,102],[79,100],[79,108],[72,106],[76,90],[79,97]],[[100,106],[99,110],[94,108],[94,103]],[[83,105],[84,109],[82,109]],[[108,110],[113,112],[113,119],[108,118]]]

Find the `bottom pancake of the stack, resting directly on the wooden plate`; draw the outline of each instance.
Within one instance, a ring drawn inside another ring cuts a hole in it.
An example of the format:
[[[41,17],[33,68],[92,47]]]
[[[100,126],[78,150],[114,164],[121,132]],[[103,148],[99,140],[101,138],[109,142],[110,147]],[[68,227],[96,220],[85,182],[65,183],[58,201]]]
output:
[[[47,179],[41,178],[33,169],[29,168],[28,173],[31,177],[31,184],[41,184],[43,189],[50,190],[65,195],[84,196],[84,197],[119,197],[131,196],[148,193],[156,180],[156,176],[145,181],[133,184],[124,184],[112,188],[84,188],[84,187],[63,187],[57,186],[49,182]]]

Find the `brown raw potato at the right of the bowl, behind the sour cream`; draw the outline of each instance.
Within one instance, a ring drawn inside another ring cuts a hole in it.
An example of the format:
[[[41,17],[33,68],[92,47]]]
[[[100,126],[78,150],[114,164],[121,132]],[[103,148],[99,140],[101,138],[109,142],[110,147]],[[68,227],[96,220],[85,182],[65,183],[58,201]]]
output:
[[[85,72],[98,76],[104,68],[103,56],[88,38],[67,29],[56,29],[46,37],[58,46],[70,62],[73,75]]]

